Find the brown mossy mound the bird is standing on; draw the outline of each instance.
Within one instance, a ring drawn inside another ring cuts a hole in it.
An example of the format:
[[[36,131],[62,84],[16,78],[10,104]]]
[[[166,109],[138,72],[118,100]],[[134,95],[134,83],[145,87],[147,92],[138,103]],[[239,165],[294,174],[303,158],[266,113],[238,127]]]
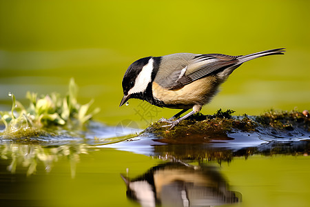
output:
[[[291,132],[302,130],[309,133],[309,116],[296,110],[270,110],[260,116],[231,116],[233,110],[218,110],[214,115],[198,113],[181,121],[172,130],[167,130],[165,122],[155,122],[145,130],[159,137],[165,143],[205,143],[210,139],[229,139],[231,132],[260,132],[262,130],[279,130]]]

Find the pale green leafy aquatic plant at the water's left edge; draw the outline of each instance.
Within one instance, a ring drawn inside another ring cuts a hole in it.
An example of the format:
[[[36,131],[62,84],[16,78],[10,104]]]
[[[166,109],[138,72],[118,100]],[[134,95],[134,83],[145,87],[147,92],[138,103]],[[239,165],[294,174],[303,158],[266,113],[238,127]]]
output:
[[[10,111],[0,111],[1,121],[5,128],[0,132],[1,137],[14,139],[29,138],[37,136],[53,135],[51,126],[62,126],[62,128],[75,128],[83,126],[90,120],[99,108],[88,112],[93,103],[91,100],[84,105],[76,100],[77,86],[74,79],[70,79],[69,92],[65,97],[53,92],[50,95],[38,95],[35,92],[27,92],[26,98],[30,105],[25,108],[12,97],[12,108]]]

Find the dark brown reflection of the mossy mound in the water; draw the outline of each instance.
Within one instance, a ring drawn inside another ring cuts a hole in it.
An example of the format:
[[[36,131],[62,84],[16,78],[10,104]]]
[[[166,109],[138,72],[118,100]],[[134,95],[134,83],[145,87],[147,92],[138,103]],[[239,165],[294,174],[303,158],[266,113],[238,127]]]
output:
[[[230,162],[234,157],[251,155],[304,155],[310,154],[310,141],[269,142],[256,147],[216,148],[209,144],[179,144],[153,146],[152,155],[163,160]]]

